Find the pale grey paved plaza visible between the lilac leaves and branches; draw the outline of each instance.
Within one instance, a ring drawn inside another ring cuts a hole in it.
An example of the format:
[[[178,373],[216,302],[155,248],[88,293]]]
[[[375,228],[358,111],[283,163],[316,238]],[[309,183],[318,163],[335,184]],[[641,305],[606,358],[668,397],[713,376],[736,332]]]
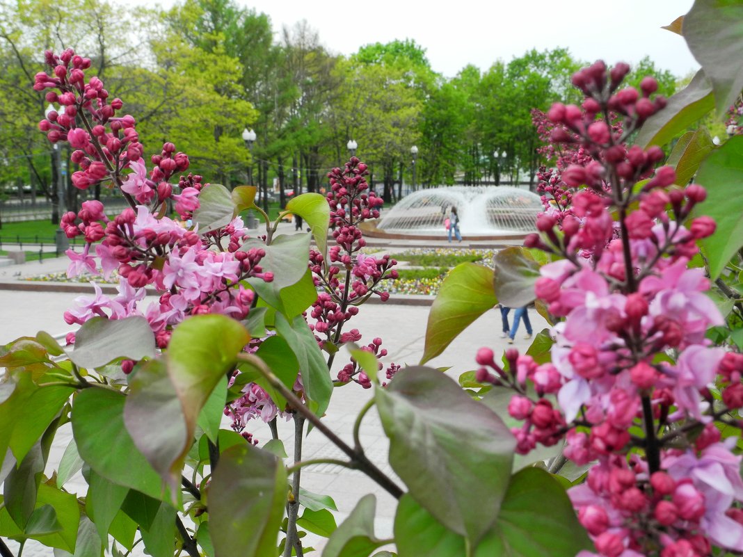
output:
[[[291,226],[291,225],[288,225]],[[292,228],[293,229],[293,228]],[[432,245],[433,244],[433,245]],[[438,245],[437,245],[438,244]],[[407,242],[406,247],[438,247],[447,242]],[[390,251],[401,248],[401,244],[395,242],[390,245]],[[467,247],[466,243],[462,247]],[[64,333],[69,330],[68,325],[62,320],[62,313],[71,304],[75,293],[53,293],[45,291],[12,291],[3,290],[4,285],[17,282],[14,280],[15,273],[38,274],[51,273],[65,270],[67,262],[65,258],[46,260],[42,264],[27,263],[24,265],[0,268],[0,307],[2,307],[2,319],[0,320],[0,344],[22,335],[35,335],[38,330],[46,330],[52,334]],[[39,271],[39,269],[41,271]],[[37,283],[38,284],[38,283]],[[42,283],[43,286],[43,283]],[[425,305],[395,304],[395,299],[401,296],[393,296],[386,304],[366,304],[361,308],[359,314],[349,322],[348,328],[357,328],[363,334],[362,343],[371,342],[375,336],[383,339],[383,348],[386,348],[389,356],[383,362],[396,362],[398,364],[416,365],[421,359],[424,351],[426,322],[429,307]],[[544,320],[533,310],[529,313],[535,332],[545,328]],[[481,316],[473,325],[470,325],[464,333],[444,351],[443,354],[432,359],[426,365],[434,368],[449,367],[447,375],[456,380],[464,371],[475,369],[475,354],[478,348],[489,346],[498,353],[508,347],[505,339],[499,337],[501,330],[501,317],[497,310],[491,310]],[[531,341],[522,338],[525,331],[523,328],[516,336],[516,348],[525,351]],[[336,358],[334,373],[348,362],[345,349],[342,349]],[[352,443],[352,429],[355,417],[359,409],[371,397],[371,390],[365,390],[359,385],[345,385],[337,388],[331,400],[330,407],[324,418],[325,423],[346,442]],[[251,424],[252,425],[252,424]],[[227,426],[227,423],[225,423]],[[270,431],[267,426],[256,423],[249,428],[260,443],[270,439]],[[291,423],[279,424],[282,438],[289,439],[293,431]],[[380,466],[383,471],[391,474],[392,469],[386,461],[388,441],[383,434],[382,426],[376,412],[370,412],[363,421],[361,429],[361,440],[367,454]],[[51,461],[58,462],[62,452],[70,439],[70,432],[63,431],[56,437]],[[286,451],[289,455],[293,452],[293,443],[286,443]],[[343,457],[337,447],[332,445],[319,431],[312,431],[304,442],[304,457]],[[50,470],[47,471],[51,472]],[[373,492],[377,495],[377,519],[375,527],[377,536],[386,538],[392,536],[392,523],[395,515],[395,501],[386,492],[383,492],[375,483],[370,481],[361,472],[343,469],[338,466],[319,465],[303,469],[302,486],[312,492],[331,495],[334,498],[338,512],[337,521],[340,523],[345,519],[361,495]],[[80,494],[85,492],[85,481],[78,475],[67,489]],[[312,544],[316,549],[322,547],[322,540],[314,536],[305,538],[305,545]],[[51,550],[35,544],[29,544],[24,550],[27,557],[52,556]]]

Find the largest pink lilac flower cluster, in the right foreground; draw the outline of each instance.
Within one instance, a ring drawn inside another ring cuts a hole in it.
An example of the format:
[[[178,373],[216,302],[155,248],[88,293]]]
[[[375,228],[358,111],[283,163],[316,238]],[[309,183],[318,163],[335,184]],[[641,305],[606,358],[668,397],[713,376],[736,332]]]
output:
[[[641,92],[618,90],[626,72],[597,62],[574,76],[582,108],[548,112],[552,139],[591,157],[562,170],[576,191],[570,211],[545,212],[541,235],[526,242],[562,257],[541,268],[535,287],[557,322],[551,362],[508,351],[504,369],[482,349],[477,377],[516,391],[508,411],[523,420],[513,429],[518,452],[564,438],[565,457],[592,464],[569,495],[600,556],[742,552],[741,457],[715,423],[741,426],[730,412],[743,406],[743,356],[706,339],[724,319],[704,270],[690,268],[715,223],[690,218],[706,192],[656,169],[661,149],[625,146],[665,105],[651,98],[652,78]]]

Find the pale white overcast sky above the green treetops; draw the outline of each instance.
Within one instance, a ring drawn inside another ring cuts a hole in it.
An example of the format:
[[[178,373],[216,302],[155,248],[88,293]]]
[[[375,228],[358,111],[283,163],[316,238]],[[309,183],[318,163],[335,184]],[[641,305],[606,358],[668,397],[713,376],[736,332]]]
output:
[[[647,55],[677,76],[698,68],[684,39],[660,28],[692,0],[236,1],[270,16],[275,31],[306,19],[334,53],[414,39],[448,77],[467,64],[486,70],[496,59],[558,46],[587,62],[632,64]]]

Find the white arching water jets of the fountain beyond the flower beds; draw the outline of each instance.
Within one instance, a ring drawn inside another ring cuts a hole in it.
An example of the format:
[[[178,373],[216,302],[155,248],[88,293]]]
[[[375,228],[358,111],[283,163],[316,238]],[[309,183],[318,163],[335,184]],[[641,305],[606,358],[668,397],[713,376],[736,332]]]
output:
[[[456,206],[463,237],[519,238],[536,231],[544,210],[539,195],[508,186],[452,186],[421,189],[383,211],[371,235],[441,239],[444,219]]]

